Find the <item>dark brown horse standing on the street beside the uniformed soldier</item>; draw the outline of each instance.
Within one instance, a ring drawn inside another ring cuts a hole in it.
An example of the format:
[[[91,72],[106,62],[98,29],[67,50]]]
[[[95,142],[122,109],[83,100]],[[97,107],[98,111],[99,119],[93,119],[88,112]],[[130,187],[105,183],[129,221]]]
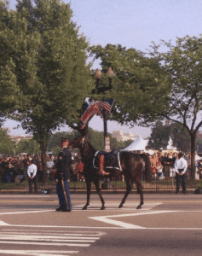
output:
[[[72,148],[79,148],[81,153],[82,161],[84,162],[84,176],[87,185],[87,202],[83,207],[83,210],[86,210],[89,206],[89,196],[91,190],[91,182],[95,184],[95,189],[97,194],[101,199],[101,210],[105,209],[105,201],[101,195],[101,189],[99,186],[99,179],[103,176],[99,175],[95,166],[93,166],[93,158],[95,156],[95,148],[88,141],[88,128],[84,128],[84,130],[80,131],[81,136],[76,137],[73,140],[70,140],[69,146]],[[145,167],[145,179],[150,182],[152,180],[152,172],[151,172],[151,164],[147,154],[134,154],[131,152],[120,152],[119,153],[119,162],[122,171],[110,168],[107,169],[106,172],[109,172],[109,175],[105,177],[116,178],[119,175],[124,175],[126,182],[126,192],[123,200],[121,201],[119,208],[123,207],[124,202],[126,201],[127,196],[130,194],[132,189],[133,181],[136,183],[136,188],[138,193],[140,194],[140,204],[137,209],[141,209],[143,205],[143,191],[141,186],[141,176],[143,167]]]

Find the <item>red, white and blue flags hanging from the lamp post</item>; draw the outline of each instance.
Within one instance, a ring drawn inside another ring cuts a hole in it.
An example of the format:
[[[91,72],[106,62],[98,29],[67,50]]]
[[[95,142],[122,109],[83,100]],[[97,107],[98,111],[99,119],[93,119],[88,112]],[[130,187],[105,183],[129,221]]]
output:
[[[113,102],[114,99],[111,99],[109,101],[98,101],[98,102],[92,102],[91,104],[88,104],[85,102],[86,108],[81,116],[80,120],[82,121],[82,125],[80,129],[83,129],[85,125],[89,122],[89,120],[96,114],[99,113],[101,115],[101,108],[105,109],[107,113],[110,113],[113,108]]]

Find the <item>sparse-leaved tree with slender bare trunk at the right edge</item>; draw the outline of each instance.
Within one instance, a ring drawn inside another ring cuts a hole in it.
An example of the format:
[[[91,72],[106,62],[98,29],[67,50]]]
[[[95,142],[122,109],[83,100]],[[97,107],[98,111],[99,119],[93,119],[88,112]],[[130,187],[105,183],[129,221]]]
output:
[[[182,125],[191,141],[191,170],[194,179],[196,134],[202,121],[199,118],[202,102],[202,41],[201,38],[177,38],[176,45],[162,43],[168,47],[166,53],[159,53],[159,47],[153,46],[153,57],[159,61],[160,72],[166,74],[163,84],[170,93],[160,94],[153,99],[155,108],[147,113],[146,122],[153,118],[169,119]],[[164,101],[162,101],[164,99]],[[150,101],[152,102],[152,101]],[[151,124],[151,123],[150,123]]]

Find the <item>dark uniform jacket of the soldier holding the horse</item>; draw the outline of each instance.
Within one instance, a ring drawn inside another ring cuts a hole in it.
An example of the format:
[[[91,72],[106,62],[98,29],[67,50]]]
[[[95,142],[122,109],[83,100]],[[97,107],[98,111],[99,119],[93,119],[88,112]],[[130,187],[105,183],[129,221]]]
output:
[[[72,164],[72,153],[67,148],[63,148],[58,154],[58,161],[56,164],[57,172],[55,179],[61,180],[61,173],[64,179],[70,179],[70,165]]]

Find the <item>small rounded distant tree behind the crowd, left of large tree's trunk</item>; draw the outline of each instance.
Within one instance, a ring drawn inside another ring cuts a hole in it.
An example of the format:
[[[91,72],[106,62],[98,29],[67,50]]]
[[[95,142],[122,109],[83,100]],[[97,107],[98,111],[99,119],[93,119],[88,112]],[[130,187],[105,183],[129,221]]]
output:
[[[16,145],[16,154],[40,154],[40,145],[33,139],[21,139]]]

